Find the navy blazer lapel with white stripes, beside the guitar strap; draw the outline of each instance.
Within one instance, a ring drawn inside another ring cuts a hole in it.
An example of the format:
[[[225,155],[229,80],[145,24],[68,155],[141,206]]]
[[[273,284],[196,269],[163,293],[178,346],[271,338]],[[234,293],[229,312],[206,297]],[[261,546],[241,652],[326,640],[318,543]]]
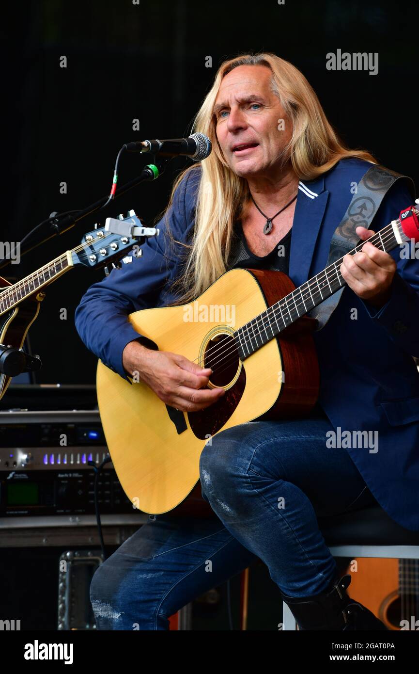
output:
[[[309,278],[311,260],[329,192],[323,176],[298,183],[298,197],[292,222],[290,273],[298,287]]]

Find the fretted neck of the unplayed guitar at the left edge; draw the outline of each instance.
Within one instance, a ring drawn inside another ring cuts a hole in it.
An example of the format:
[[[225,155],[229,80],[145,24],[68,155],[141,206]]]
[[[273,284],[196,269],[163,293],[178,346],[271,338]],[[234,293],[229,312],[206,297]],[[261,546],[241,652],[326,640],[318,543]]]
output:
[[[18,283],[7,286],[0,294],[0,315],[9,309],[13,309],[22,300],[30,295],[42,290],[44,286],[55,281],[72,268],[71,252],[67,251],[60,257],[51,260],[48,264],[36,270],[33,274],[26,276]]]

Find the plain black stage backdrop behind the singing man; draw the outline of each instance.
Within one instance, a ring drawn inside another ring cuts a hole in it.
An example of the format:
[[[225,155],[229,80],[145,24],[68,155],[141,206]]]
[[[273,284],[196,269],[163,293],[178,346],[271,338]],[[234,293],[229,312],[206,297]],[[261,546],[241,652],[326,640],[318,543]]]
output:
[[[84,208],[106,195],[123,143],[189,135],[218,65],[247,51],[273,51],[294,63],[350,147],[370,150],[418,184],[414,1],[36,0],[13,3],[7,12],[0,28],[3,241],[20,241],[53,210]],[[328,71],[326,54],[337,49],[379,53],[378,74]],[[205,67],[208,56],[212,67]],[[134,208],[151,224],[187,161],[172,161],[156,183],[121,197],[100,221]],[[123,156],[119,184],[146,163]],[[60,193],[61,181],[67,194]],[[22,278],[77,245],[95,221],[86,218],[0,273]],[[38,383],[94,382],[96,357],[79,340],[73,314],[102,276],[73,270],[47,290],[30,330],[43,362]],[[63,307],[67,320],[60,319]]]

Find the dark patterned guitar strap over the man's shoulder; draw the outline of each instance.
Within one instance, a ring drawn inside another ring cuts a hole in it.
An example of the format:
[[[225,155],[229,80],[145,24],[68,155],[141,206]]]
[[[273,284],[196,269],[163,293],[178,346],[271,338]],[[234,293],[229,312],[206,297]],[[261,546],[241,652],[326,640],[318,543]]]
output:
[[[395,181],[400,178],[409,181],[408,186],[413,199],[415,199],[416,190],[412,178],[391,171],[390,168],[385,168],[385,166],[379,164],[374,164],[371,168],[368,168],[357,185],[356,193],[354,193],[342,221],[335,229],[326,266],[336,262],[337,259],[352,251],[360,243],[361,240],[355,232],[356,227],[362,226],[369,229],[383,198]],[[345,287],[337,290],[336,293],[314,307],[309,313],[309,316],[317,319],[316,331],[321,330],[327,324],[331,314],[339,304]]]

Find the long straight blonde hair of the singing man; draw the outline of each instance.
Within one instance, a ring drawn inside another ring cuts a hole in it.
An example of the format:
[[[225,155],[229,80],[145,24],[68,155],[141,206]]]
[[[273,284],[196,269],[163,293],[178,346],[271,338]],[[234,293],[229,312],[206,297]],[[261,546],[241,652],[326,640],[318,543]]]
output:
[[[190,251],[181,275],[172,286],[172,290],[176,289],[181,295],[176,304],[195,299],[224,274],[230,255],[234,221],[250,195],[247,180],[236,175],[223,156],[213,113],[222,79],[239,65],[264,65],[271,69],[271,89],[278,96],[293,128],[285,156],[289,157],[300,179],[312,180],[346,157],[377,163],[366,150],[350,150],[344,146],[327,121],[315,91],[292,63],[272,53],[245,54],[224,61],[193,122],[193,132],[204,133],[210,138],[212,153],[200,164],[201,180],[192,243],[176,241],[170,228],[167,228],[172,243],[176,242]],[[182,171],[174,181],[166,214],[172,206],[176,187],[186,173],[194,170],[197,170],[196,164]]]

